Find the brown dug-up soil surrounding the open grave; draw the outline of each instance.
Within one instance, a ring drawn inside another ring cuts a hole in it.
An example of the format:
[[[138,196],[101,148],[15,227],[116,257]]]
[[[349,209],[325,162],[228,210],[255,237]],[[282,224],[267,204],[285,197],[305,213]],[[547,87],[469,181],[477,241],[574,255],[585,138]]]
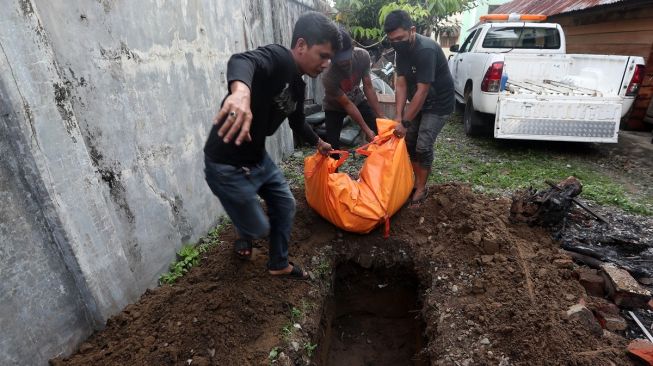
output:
[[[549,232],[511,224],[510,200],[440,185],[391,235],[342,233],[301,191],[291,260],[270,277],[225,244],[147,291],[53,365],[629,365],[627,340],[569,319],[587,298]],[[271,356],[272,351],[272,356]]]

